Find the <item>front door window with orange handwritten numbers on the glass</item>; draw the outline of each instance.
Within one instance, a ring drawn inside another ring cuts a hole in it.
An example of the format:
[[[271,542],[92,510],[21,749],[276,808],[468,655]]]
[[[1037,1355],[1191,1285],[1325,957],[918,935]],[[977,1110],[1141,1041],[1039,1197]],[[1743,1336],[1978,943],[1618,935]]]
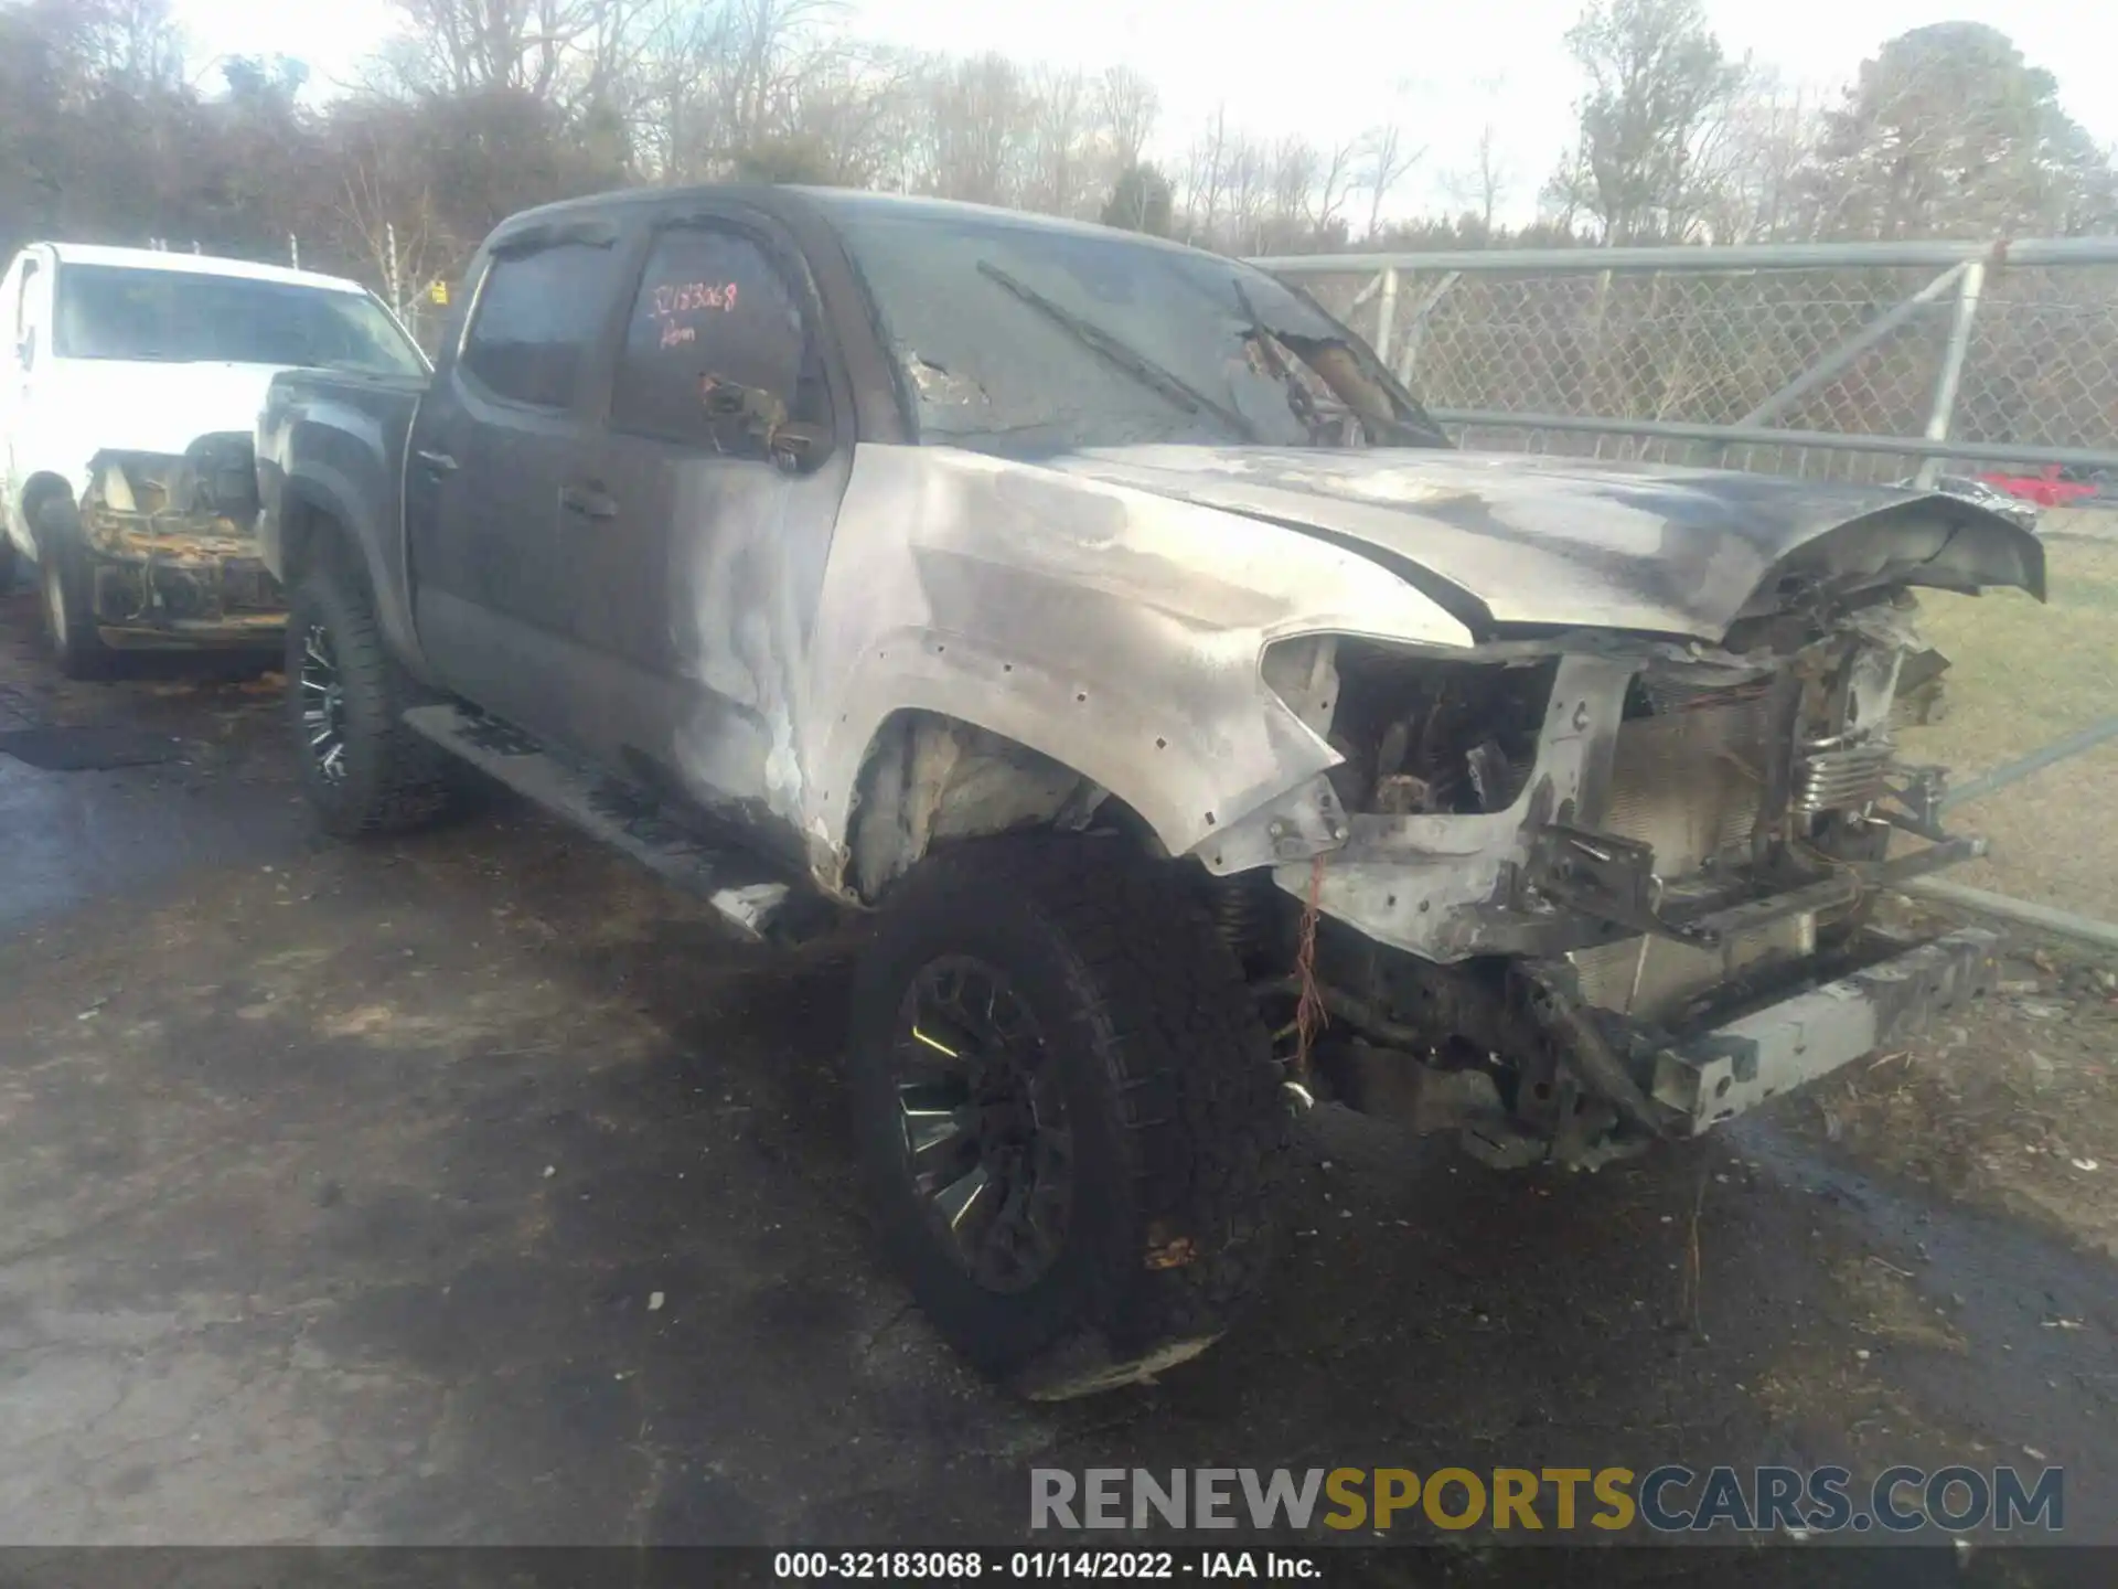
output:
[[[743,415],[820,419],[824,407],[801,297],[771,254],[726,227],[661,233],[625,326],[612,430],[752,451]]]

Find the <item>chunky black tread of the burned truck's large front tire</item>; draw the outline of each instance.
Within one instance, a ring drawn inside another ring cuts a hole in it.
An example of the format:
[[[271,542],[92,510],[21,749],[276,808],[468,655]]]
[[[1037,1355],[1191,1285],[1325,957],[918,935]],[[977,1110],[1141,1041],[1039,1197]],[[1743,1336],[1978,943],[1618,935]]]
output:
[[[1139,1229],[1195,1239],[1195,1258],[1165,1269],[1146,1267],[1142,1248],[1131,1273],[1106,1275],[1108,1292],[1084,1299],[1080,1324],[1125,1358],[1222,1335],[1264,1284],[1290,1138],[1235,953],[1173,864],[1110,837],[959,843],[915,867],[885,911],[955,913],[995,896],[1027,900],[1087,972],[1076,1015],[1116,1070]],[[1055,1341],[1051,1354],[1065,1347]]]

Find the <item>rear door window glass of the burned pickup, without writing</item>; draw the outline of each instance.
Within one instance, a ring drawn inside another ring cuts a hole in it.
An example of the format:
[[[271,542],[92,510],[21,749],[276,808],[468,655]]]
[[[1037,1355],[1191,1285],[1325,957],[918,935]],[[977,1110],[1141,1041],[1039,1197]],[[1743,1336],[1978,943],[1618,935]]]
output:
[[[493,396],[563,409],[610,288],[610,248],[551,244],[502,254],[487,269],[457,362]]]

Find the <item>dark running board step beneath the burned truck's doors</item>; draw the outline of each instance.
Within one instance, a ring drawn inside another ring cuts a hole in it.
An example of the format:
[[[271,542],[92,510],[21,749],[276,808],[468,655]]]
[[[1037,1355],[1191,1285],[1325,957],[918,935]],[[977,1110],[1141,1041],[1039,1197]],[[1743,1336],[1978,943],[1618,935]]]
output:
[[[794,890],[767,862],[735,845],[703,843],[661,816],[652,799],[555,756],[506,722],[443,703],[411,708],[405,725],[705,900],[750,941],[762,941],[779,917],[798,915],[786,909]]]

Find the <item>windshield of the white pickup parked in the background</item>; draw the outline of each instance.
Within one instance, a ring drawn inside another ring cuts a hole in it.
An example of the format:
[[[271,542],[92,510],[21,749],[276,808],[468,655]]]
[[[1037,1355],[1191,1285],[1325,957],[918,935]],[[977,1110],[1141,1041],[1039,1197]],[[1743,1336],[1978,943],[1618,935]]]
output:
[[[419,350],[364,292],[116,265],[59,267],[53,352],[61,358],[426,373]]]

